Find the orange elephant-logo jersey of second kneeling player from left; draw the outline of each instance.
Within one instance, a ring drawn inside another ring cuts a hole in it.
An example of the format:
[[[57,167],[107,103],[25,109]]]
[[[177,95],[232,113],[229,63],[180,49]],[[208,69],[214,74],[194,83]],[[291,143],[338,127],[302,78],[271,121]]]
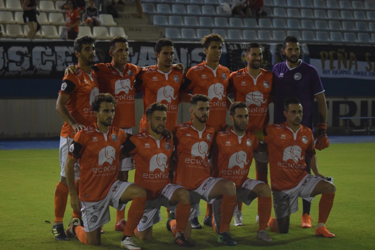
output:
[[[147,200],[159,197],[169,183],[168,164],[172,156],[173,141],[165,137],[156,140],[148,132],[131,136],[124,144],[123,151],[133,155],[136,164],[134,183],[143,187]]]

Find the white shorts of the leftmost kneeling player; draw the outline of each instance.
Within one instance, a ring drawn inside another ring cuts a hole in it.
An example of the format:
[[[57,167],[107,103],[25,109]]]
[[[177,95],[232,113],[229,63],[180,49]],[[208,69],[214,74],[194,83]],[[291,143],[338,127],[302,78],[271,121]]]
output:
[[[120,201],[121,195],[132,182],[115,181],[107,196],[101,201],[81,201],[82,219],[86,232],[92,232],[111,220],[110,206],[117,210],[123,210],[125,203]]]

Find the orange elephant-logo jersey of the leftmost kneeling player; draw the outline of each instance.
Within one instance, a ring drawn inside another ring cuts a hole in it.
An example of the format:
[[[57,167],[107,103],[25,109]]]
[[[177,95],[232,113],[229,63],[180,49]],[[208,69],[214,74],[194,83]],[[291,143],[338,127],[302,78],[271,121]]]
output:
[[[79,159],[82,201],[100,201],[110,192],[117,180],[120,147],[126,137],[124,130],[114,126],[106,134],[102,133],[96,123],[74,136],[68,156]]]

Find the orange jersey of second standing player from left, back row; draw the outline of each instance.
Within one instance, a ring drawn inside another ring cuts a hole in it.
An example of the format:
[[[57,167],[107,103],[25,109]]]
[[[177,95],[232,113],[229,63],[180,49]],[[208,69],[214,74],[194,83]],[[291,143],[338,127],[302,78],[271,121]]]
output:
[[[100,92],[110,93],[118,100],[113,125],[122,128],[135,127],[134,81],[142,68],[127,63],[120,72],[113,63],[99,63],[95,64],[93,69],[97,72]]]

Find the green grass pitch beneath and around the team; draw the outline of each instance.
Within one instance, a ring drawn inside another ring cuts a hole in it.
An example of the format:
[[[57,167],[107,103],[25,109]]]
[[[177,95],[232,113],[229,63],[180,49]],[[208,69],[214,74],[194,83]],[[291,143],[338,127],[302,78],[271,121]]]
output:
[[[271,243],[256,239],[258,225],[257,201],[249,207],[243,206],[244,226],[231,226],[231,235],[237,241],[236,247],[222,246],[216,241],[211,228],[204,226],[193,230],[195,249],[375,249],[372,231],[374,198],[374,151],[375,144],[331,144],[318,151],[320,173],[332,176],[336,185],[336,197],[327,228],[336,238],[322,238],[314,235],[318,221],[320,195],[312,203],[311,217],[315,220],[312,229],[300,227],[300,211],[291,216],[290,231],[279,235],[267,232]],[[54,190],[60,176],[58,150],[3,150],[0,151],[0,248],[10,249],[120,249],[122,233],[114,231],[115,210],[111,208],[111,222],[104,225],[105,234],[98,247],[81,244],[78,239],[58,242],[51,233],[54,220]],[[254,165],[254,163],[253,163]],[[254,178],[254,166],[250,178]],[[130,180],[133,173],[130,174]],[[203,224],[205,202],[201,202]],[[128,206],[129,207],[129,206]],[[69,199],[64,225],[68,226],[72,209]],[[127,213],[127,212],[126,212]],[[273,211],[272,211],[272,214]],[[171,232],[166,231],[166,212],[162,208],[163,220],[154,226],[153,241],[136,243],[142,249],[178,249],[172,243]],[[232,220],[233,223],[233,220]]]

